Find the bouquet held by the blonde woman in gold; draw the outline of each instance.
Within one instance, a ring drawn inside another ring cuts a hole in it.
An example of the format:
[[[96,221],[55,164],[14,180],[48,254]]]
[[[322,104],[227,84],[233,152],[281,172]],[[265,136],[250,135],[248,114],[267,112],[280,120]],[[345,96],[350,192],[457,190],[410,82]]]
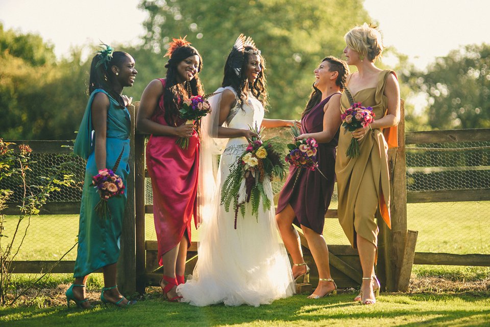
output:
[[[345,113],[341,114],[342,126],[345,128],[344,134],[349,132],[353,132],[361,127],[366,127],[369,125],[374,119],[375,114],[373,112],[373,108],[371,107],[362,107],[361,103],[353,103],[352,106],[346,110]],[[351,144],[346,151],[346,156],[350,158],[355,158],[359,156],[359,143],[357,139],[352,138]]]

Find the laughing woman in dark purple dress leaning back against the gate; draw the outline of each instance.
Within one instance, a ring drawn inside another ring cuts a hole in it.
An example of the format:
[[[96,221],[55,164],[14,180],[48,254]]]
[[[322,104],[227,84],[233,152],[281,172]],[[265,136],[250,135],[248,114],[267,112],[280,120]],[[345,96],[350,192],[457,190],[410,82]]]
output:
[[[335,153],[340,127],[340,95],[349,74],[347,64],[335,57],[326,57],[314,70],[313,92],[301,115],[301,135],[298,139],[314,138],[318,143],[318,171],[289,167],[289,175],[279,196],[276,220],[284,245],[293,261],[295,280],[309,282],[310,269],[301,250],[300,236],[293,223],[300,227],[308,241],[318,275],[318,286],[308,298],[336,294],[337,286],[330,275],[328,248],[322,236],[325,214],[335,183]]]

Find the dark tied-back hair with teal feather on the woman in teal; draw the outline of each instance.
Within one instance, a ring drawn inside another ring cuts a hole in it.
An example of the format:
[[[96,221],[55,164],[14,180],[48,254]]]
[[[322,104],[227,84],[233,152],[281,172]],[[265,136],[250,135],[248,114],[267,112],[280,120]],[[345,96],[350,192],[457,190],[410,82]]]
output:
[[[129,54],[123,51],[112,51],[109,45],[104,45],[106,49],[101,50],[92,58],[88,93],[92,94],[95,89],[103,89],[119,103],[121,108],[124,108],[124,100],[119,93],[114,91],[116,76],[112,72],[112,66],[122,67]]]

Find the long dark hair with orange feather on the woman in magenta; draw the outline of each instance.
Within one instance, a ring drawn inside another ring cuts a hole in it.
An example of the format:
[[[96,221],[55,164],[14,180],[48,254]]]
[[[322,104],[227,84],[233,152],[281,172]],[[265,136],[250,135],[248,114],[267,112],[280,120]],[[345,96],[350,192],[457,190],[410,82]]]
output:
[[[201,84],[201,79],[199,78],[198,74],[203,67],[203,58],[197,49],[189,44],[174,48],[170,53],[170,59],[165,64],[167,73],[165,76],[166,82],[163,90],[163,105],[165,108],[164,118],[169,126],[176,125],[179,109],[184,100],[193,95],[204,94],[203,85]],[[192,80],[185,81],[183,84],[181,84],[177,81],[177,66],[180,62],[191,56],[199,57],[198,73],[195,74]]]

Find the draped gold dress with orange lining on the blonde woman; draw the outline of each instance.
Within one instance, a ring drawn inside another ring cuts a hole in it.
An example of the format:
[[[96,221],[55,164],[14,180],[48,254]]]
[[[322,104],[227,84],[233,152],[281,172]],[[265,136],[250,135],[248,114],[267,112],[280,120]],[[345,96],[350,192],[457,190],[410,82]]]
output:
[[[383,95],[386,79],[392,70],[383,70],[377,87],[366,88],[352,94],[354,102],[363,107],[372,107],[375,120],[386,115],[388,98]],[[396,75],[395,75],[396,76]],[[344,92],[340,98],[342,113],[351,104]],[[380,131],[373,129],[359,140],[360,154],[357,158],[346,156],[352,134],[340,127],[335,173],[338,190],[338,220],[351,242],[357,247],[356,234],[377,246],[378,226],[374,219],[379,207],[383,220],[391,228],[389,216],[389,173],[387,150],[398,146],[396,127]],[[384,132],[384,133],[383,133]]]

